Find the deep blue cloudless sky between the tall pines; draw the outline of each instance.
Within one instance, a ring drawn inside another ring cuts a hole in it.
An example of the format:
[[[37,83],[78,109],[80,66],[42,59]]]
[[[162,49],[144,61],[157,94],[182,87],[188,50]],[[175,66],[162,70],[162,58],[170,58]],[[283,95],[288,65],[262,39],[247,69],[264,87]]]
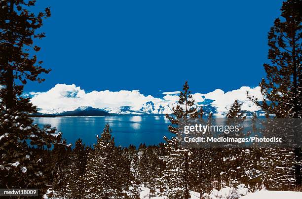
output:
[[[257,86],[265,77],[267,32],[281,0],[52,0],[39,59],[52,72],[26,91],[57,83],[86,91],[132,90],[156,96]]]

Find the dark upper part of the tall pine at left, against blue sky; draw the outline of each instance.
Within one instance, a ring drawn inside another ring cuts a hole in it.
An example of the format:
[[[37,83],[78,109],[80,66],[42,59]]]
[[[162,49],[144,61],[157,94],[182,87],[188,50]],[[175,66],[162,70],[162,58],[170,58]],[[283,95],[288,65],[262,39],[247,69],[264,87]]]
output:
[[[41,67],[42,61],[38,61],[33,53],[40,50],[34,45],[34,38],[45,37],[37,30],[43,19],[50,17],[50,9],[45,8],[38,14],[30,12],[35,3],[36,0],[0,1],[0,85],[4,86],[0,97],[5,108],[12,111],[35,112],[29,98],[21,96],[23,86],[27,80],[43,81],[39,75],[50,71]]]

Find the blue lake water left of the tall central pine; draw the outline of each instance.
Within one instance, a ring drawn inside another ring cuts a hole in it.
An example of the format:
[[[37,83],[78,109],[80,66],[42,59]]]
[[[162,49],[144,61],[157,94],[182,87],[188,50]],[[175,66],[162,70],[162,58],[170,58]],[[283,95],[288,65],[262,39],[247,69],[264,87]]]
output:
[[[106,116],[106,117],[57,117],[34,118],[39,126],[51,124],[63,133],[68,143],[81,138],[87,146],[96,143],[96,135],[103,132],[108,123],[112,129],[115,145],[128,147],[130,144],[139,146],[157,145],[164,142],[163,136],[171,138],[168,131],[170,121],[164,116]]]

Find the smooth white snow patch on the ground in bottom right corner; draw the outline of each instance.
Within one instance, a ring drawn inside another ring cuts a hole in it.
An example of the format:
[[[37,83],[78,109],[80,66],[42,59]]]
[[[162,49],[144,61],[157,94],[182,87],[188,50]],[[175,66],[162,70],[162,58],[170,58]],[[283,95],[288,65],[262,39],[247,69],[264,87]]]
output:
[[[250,193],[240,199],[302,199],[302,192],[262,190]]]

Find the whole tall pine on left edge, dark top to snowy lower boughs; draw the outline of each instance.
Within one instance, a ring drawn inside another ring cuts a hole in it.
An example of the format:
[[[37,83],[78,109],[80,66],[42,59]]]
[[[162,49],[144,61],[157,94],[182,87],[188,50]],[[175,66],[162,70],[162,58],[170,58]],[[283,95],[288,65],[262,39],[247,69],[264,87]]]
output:
[[[36,107],[22,95],[27,80],[41,82],[39,75],[49,72],[37,60],[34,38],[44,37],[37,30],[50,10],[31,12],[35,2],[0,1],[0,187],[38,188],[43,194],[51,171],[43,150],[59,142],[60,134],[33,125],[28,114]]]

